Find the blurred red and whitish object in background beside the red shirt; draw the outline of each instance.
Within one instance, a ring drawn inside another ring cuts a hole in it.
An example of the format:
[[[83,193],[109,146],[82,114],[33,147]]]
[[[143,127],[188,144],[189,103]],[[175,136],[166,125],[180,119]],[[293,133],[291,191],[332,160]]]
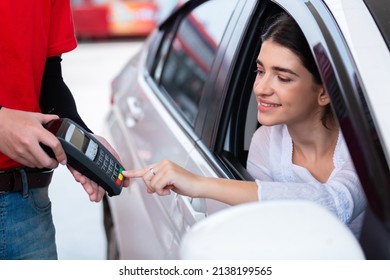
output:
[[[154,1],[73,1],[78,38],[147,36],[156,25],[158,7]]]

